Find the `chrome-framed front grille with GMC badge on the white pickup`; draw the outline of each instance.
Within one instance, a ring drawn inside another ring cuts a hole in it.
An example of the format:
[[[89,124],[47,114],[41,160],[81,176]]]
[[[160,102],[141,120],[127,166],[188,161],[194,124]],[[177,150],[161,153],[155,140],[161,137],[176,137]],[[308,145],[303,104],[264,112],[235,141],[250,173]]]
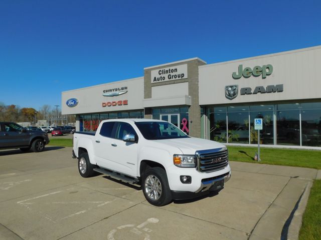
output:
[[[201,172],[218,171],[228,164],[227,149],[218,148],[196,152],[197,168]]]

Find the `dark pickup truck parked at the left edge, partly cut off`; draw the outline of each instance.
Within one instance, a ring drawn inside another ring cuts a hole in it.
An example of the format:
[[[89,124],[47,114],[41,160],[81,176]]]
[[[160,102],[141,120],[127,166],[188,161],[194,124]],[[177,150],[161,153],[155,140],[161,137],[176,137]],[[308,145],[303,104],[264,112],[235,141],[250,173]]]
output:
[[[28,130],[15,122],[0,122],[0,149],[20,148],[22,151],[43,151],[49,143],[48,133]]]

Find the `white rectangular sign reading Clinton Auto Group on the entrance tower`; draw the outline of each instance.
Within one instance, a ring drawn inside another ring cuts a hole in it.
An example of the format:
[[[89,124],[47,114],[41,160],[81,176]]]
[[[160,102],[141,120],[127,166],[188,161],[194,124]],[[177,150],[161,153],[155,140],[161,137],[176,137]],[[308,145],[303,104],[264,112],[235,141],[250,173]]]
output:
[[[187,78],[187,64],[151,70],[151,83]]]

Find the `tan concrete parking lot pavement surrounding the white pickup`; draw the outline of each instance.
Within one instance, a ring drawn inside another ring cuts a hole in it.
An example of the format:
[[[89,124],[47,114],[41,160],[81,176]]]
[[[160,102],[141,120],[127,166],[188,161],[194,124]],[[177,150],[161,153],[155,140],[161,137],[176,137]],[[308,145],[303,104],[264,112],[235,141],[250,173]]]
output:
[[[71,150],[0,151],[0,239],[282,239],[317,174],[232,161],[219,194],[155,207],[137,186],[82,178]]]

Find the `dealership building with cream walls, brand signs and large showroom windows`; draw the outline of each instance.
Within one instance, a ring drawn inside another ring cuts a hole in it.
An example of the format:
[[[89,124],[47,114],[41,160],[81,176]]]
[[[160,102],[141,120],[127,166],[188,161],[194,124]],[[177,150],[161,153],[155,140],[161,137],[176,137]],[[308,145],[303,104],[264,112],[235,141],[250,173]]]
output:
[[[76,130],[113,118],[172,122],[225,143],[321,147],[321,46],[207,64],[195,57],[148,66],[141,77],[62,92]]]

